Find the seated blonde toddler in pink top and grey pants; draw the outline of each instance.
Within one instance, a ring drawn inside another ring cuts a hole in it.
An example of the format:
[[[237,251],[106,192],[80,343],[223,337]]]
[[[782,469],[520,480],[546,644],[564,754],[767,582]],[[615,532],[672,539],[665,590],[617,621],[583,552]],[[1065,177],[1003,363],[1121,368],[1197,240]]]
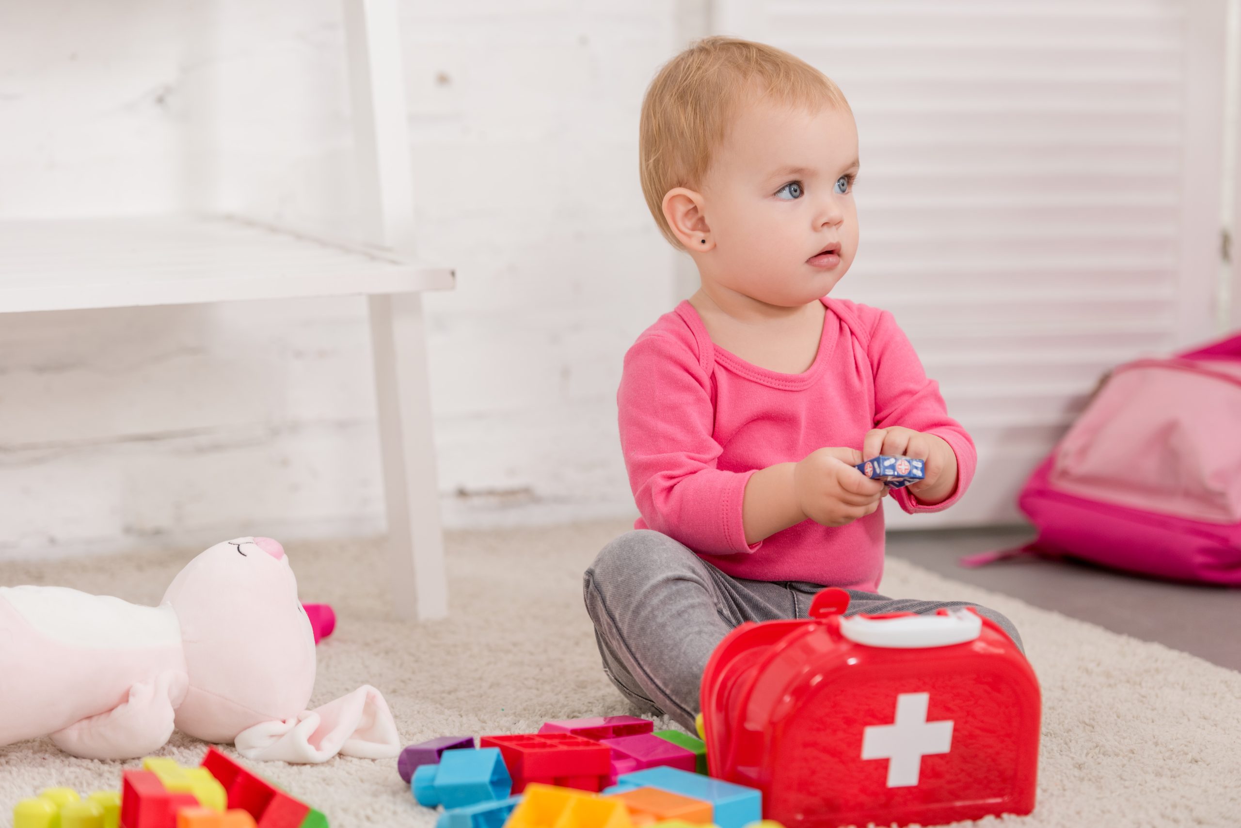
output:
[[[642,517],[583,592],[608,678],[692,730],[707,658],[743,621],[805,617],[825,585],[849,590],[848,615],[961,606],[876,592],[889,491],[854,465],[926,460],[891,497],[933,512],[964,493],[975,452],[892,315],[828,297],[858,250],[858,130],[830,79],[706,38],[652,82],[639,155],[650,212],[701,288],[625,355]]]

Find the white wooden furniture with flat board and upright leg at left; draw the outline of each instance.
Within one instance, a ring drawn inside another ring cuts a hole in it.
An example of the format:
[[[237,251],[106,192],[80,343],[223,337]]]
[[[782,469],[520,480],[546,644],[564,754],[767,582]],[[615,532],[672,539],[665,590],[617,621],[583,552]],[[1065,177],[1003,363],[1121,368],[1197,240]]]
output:
[[[448,612],[422,291],[449,268],[413,255],[413,186],[396,0],[345,0],[367,242],[228,216],[0,221],[0,314],[365,295],[383,457],[392,599]]]

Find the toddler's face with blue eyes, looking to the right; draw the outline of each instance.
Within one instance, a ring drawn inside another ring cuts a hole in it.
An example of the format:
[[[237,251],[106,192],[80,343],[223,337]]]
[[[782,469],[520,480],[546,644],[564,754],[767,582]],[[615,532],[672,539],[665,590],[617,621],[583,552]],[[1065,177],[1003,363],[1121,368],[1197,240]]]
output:
[[[746,105],[702,182],[701,275],[768,305],[827,295],[858,252],[856,174],[848,110]]]

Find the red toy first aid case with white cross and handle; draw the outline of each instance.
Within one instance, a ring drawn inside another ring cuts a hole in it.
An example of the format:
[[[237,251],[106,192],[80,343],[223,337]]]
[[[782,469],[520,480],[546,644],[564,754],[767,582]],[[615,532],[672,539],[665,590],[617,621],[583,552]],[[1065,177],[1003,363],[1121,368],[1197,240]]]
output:
[[[1034,809],[1039,682],[970,607],[743,623],[702,677],[711,776],[787,828],[939,824]]]

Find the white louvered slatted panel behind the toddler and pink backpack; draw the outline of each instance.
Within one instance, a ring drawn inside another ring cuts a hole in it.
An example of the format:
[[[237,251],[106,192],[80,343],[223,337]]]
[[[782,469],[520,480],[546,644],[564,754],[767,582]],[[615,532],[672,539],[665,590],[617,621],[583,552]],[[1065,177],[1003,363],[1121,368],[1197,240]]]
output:
[[[1224,0],[721,0],[858,120],[858,259],[973,435],[956,508],[1016,493],[1118,362],[1215,333]]]

